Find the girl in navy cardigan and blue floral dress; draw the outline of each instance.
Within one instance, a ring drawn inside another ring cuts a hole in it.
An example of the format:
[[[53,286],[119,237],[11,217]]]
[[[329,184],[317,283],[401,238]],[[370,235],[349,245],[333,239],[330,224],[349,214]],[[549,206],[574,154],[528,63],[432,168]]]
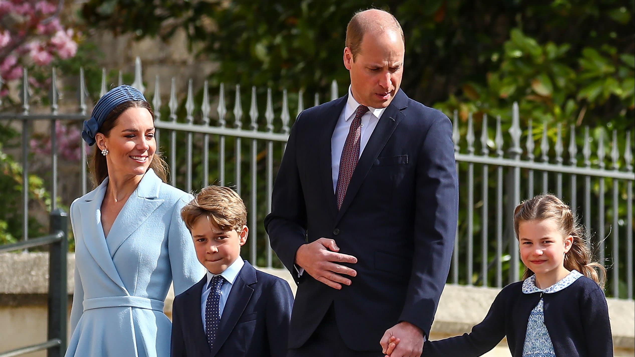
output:
[[[584,230],[552,194],[516,206],[524,281],[505,286],[471,333],[424,344],[422,357],[481,356],[507,337],[514,357],[613,356],[608,307]]]

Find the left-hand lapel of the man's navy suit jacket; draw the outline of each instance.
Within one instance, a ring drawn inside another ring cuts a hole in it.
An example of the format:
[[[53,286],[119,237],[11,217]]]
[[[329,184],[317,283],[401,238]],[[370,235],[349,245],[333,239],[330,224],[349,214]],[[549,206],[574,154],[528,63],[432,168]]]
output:
[[[344,105],[349,98],[345,95],[331,103],[330,107],[324,111],[323,118],[326,123],[326,130],[319,131],[321,137],[318,138],[318,172],[320,184],[324,189],[324,197],[330,212],[337,212],[337,201],[335,199],[335,191],[333,191],[333,166],[331,159],[331,137],[340,118],[340,114],[344,111]]]

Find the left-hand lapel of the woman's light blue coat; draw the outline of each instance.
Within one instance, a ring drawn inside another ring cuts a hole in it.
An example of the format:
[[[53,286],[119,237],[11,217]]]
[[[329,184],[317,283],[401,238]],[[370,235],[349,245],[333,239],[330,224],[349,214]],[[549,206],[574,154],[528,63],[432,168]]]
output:
[[[112,257],[110,257],[108,246],[106,245],[106,238],[104,237],[104,228],[102,227],[101,207],[107,184],[108,179],[105,179],[102,184],[90,192],[90,194],[86,195],[82,201],[77,202],[81,214],[82,235],[86,250],[88,250],[95,262],[97,262],[97,265],[110,280],[120,286],[127,295],[128,291],[123,285],[123,281],[117,272],[114,262],[112,262]]]

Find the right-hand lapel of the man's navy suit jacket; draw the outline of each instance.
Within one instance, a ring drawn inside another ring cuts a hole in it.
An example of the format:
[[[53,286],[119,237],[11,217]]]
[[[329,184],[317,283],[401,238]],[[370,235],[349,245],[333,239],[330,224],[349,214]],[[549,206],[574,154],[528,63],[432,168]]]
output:
[[[397,125],[399,125],[399,122],[401,122],[404,118],[404,114],[401,110],[406,107],[408,107],[408,97],[406,97],[406,94],[403,93],[402,90],[399,90],[391,104],[388,105],[382,114],[382,118],[380,118],[377,122],[375,130],[373,130],[366,147],[364,147],[364,151],[359,157],[358,164],[355,166],[355,170],[353,171],[353,175],[351,177],[351,182],[349,182],[349,187],[346,190],[344,201],[342,201],[342,207],[338,212],[337,219],[335,219],[335,224],[340,221],[344,212],[346,212],[347,208],[351,205],[359,187],[362,182],[364,182],[366,174],[368,174],[371,166],[373,166],[373,163],[377,159],[379,153],[382,149],[384,149],[384,146],[388,142],[388,139],[391,137],[395,128],[397,128]]]

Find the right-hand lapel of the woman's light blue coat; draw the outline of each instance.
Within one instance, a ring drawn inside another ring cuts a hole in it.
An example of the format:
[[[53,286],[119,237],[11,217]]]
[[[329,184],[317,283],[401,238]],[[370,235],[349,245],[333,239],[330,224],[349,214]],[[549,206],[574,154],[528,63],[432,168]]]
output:
[[[110,228],[106,239],[110,257],[114,257],[123,242],[163,204],[164,199],[158,198],[160,187],[161,179],[149,169]]]

